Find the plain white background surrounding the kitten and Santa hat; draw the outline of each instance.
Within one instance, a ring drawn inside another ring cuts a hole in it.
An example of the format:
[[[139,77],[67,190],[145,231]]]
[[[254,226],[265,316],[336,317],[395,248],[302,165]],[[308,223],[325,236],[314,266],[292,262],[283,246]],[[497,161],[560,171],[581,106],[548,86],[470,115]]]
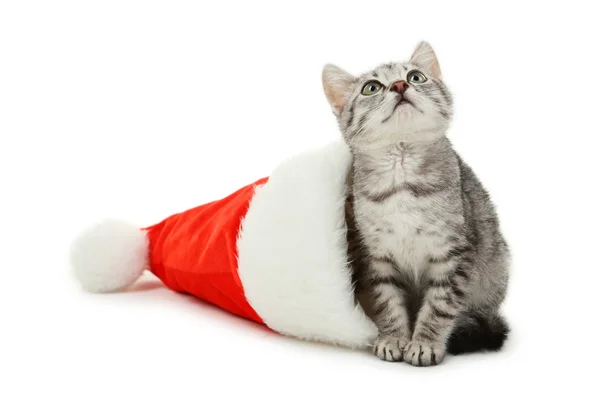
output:
[[[593,4],[2,2],[0,397],[597,396]],[[84,226],[149,225],[336,139],[322,66],[358,74],[422,39],[513,248],[504,351],[414,368],[280,337],[152,277],[115,295],[71,280]]]

